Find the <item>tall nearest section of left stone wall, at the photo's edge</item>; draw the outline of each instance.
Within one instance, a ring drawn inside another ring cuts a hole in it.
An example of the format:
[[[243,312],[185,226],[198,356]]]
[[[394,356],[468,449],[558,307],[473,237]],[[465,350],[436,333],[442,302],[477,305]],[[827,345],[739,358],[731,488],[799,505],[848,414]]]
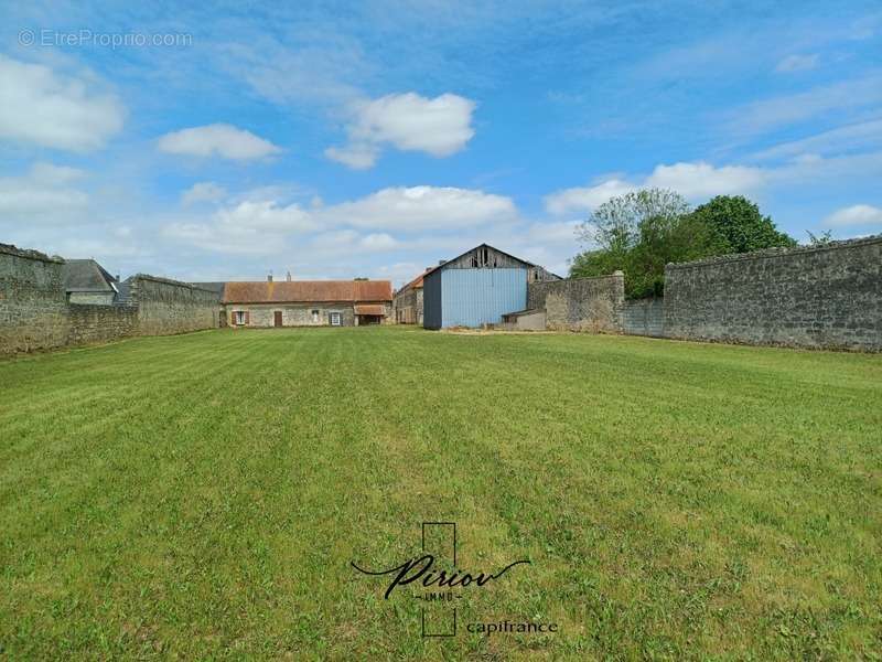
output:
[[[63,260],[0,244],[0,354],[67,342]]]

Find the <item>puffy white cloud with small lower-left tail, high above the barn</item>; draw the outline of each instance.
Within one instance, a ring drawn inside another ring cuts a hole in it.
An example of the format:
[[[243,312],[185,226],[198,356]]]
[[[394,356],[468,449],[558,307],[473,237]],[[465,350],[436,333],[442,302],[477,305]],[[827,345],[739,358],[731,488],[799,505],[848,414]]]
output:
[[[412,92],[390,94],[352,105],[346,147],[331,147],[325,156],[349,168],[370,168],[384,146],[449,157],[474,136],[475,103],[455,94],[433,99]]]

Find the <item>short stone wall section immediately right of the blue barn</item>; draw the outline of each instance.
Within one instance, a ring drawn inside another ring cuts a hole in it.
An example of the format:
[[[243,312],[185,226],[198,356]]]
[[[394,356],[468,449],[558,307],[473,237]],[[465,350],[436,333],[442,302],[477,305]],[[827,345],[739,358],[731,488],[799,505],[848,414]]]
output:
[[[553,330],[621,333],[624,302],[622,271],[527,285],[527,309],[545,309],[546,324]]]

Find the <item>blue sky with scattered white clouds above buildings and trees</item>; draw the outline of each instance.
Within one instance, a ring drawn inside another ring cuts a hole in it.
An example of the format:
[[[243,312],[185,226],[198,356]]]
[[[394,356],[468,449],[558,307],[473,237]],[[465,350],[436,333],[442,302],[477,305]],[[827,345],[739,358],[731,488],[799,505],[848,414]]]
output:
[[[0,242],[184,279],[400,285],[481,242],[564,271],[643,185],[882,232],[878,1],[130,4],[0,4]]]

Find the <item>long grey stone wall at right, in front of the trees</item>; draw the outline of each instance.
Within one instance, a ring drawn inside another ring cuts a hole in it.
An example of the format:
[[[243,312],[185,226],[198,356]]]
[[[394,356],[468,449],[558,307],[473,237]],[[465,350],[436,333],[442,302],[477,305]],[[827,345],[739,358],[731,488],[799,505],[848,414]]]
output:
[[[665,268],[668,338],[882,350],[882,236]]]

